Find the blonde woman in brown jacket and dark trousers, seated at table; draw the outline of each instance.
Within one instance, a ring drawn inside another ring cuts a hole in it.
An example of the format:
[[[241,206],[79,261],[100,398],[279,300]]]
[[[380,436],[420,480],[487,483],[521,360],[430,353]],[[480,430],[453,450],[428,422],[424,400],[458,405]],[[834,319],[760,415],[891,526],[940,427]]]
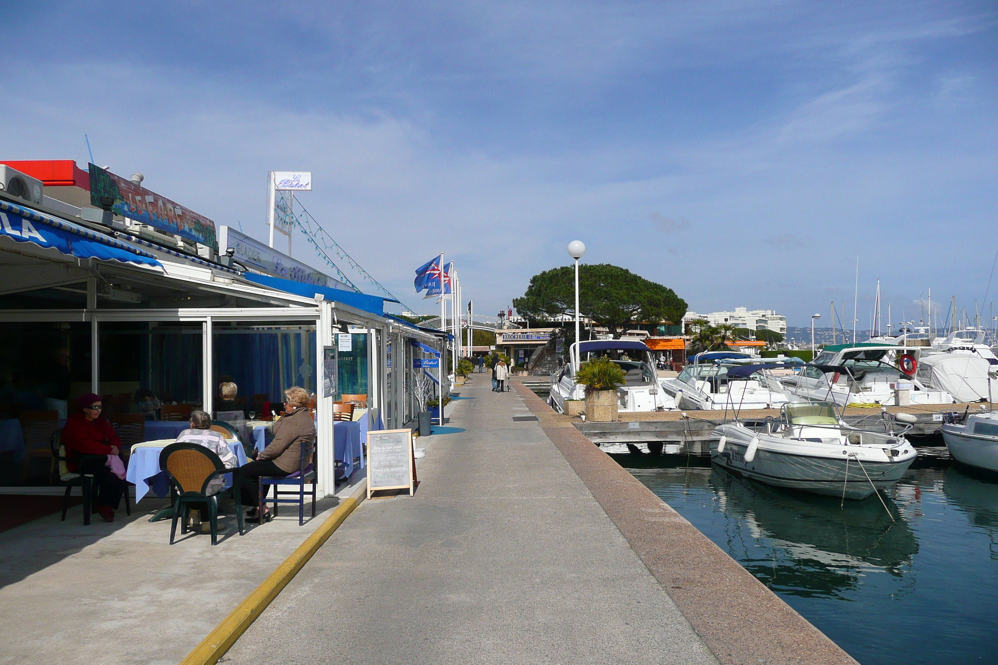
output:
[[[315,448],[315,423],[308,413],[308,393],[293,386],[284,391],[284,416],[273,424],[273,441],[256,460],[240,467],[243,477],[242,502],[251,505],[249,521],[270,521],[270,510],[256,514],[259,502],[259,479],[262,476],[284,478],[301,470],[301,447]]]

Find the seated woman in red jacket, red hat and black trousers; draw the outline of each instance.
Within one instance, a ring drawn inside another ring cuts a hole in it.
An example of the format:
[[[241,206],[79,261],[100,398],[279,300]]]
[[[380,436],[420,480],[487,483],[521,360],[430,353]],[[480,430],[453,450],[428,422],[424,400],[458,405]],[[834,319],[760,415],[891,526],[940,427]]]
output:
[[[113,521],[114,509],[121,504],[127,486],[111,473],[107,456],[118,455],[122,442],[111,423],[101,417],[103,404],[99,395],[84,395],[79,404],[82,409],[70,415],[62,433],[69,468],[94,476],[97,491],[94,504],[104,521]]]

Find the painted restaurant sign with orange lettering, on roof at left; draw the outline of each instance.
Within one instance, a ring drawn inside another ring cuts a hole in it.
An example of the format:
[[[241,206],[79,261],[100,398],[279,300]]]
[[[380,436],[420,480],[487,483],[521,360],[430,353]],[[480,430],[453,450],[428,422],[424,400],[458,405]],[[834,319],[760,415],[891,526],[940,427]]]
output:
[[[90,165],[90,202],[218,250],[215,222],[100,166]]]

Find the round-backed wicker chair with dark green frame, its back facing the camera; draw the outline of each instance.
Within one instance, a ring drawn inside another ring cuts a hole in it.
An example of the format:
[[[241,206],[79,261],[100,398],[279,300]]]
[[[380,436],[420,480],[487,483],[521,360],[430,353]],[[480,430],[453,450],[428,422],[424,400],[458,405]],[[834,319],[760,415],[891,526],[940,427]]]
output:
[[[228,492],[236,501],[236,520],[243,535],[243,508],[240,505],[240,470],[226,469],[222,460],[204,446],[198,444],[171,444],[160,453],[160,469],[170,479],[171,492],[176,492],[174,520],[170,526],[170,544],[177,535],[177,520],[181,519],[181,533],[187,533],[187,516],[191,503],[208,503],[208,513],[212,526],[212,544],[219,543],[219,495],[209,495],[208,486],[219,476],[233,475],[233,487]],[[225,491],[223,491],[225,492]],[[219,493],[221,494],[221,493]]]

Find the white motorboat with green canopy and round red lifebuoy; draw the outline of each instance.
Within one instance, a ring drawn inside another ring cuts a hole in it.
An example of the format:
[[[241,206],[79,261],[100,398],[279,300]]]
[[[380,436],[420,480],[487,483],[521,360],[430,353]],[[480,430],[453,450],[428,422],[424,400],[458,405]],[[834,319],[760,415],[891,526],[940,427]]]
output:
[[[895,344],[836,344],[824,347],[813,363],[779,381],[796,399],[839,406],[891,404],[895,391],[901,390],[908,393],[910,404],[952,404],[947,391],[915,378],[919,355],[918,348]]]

